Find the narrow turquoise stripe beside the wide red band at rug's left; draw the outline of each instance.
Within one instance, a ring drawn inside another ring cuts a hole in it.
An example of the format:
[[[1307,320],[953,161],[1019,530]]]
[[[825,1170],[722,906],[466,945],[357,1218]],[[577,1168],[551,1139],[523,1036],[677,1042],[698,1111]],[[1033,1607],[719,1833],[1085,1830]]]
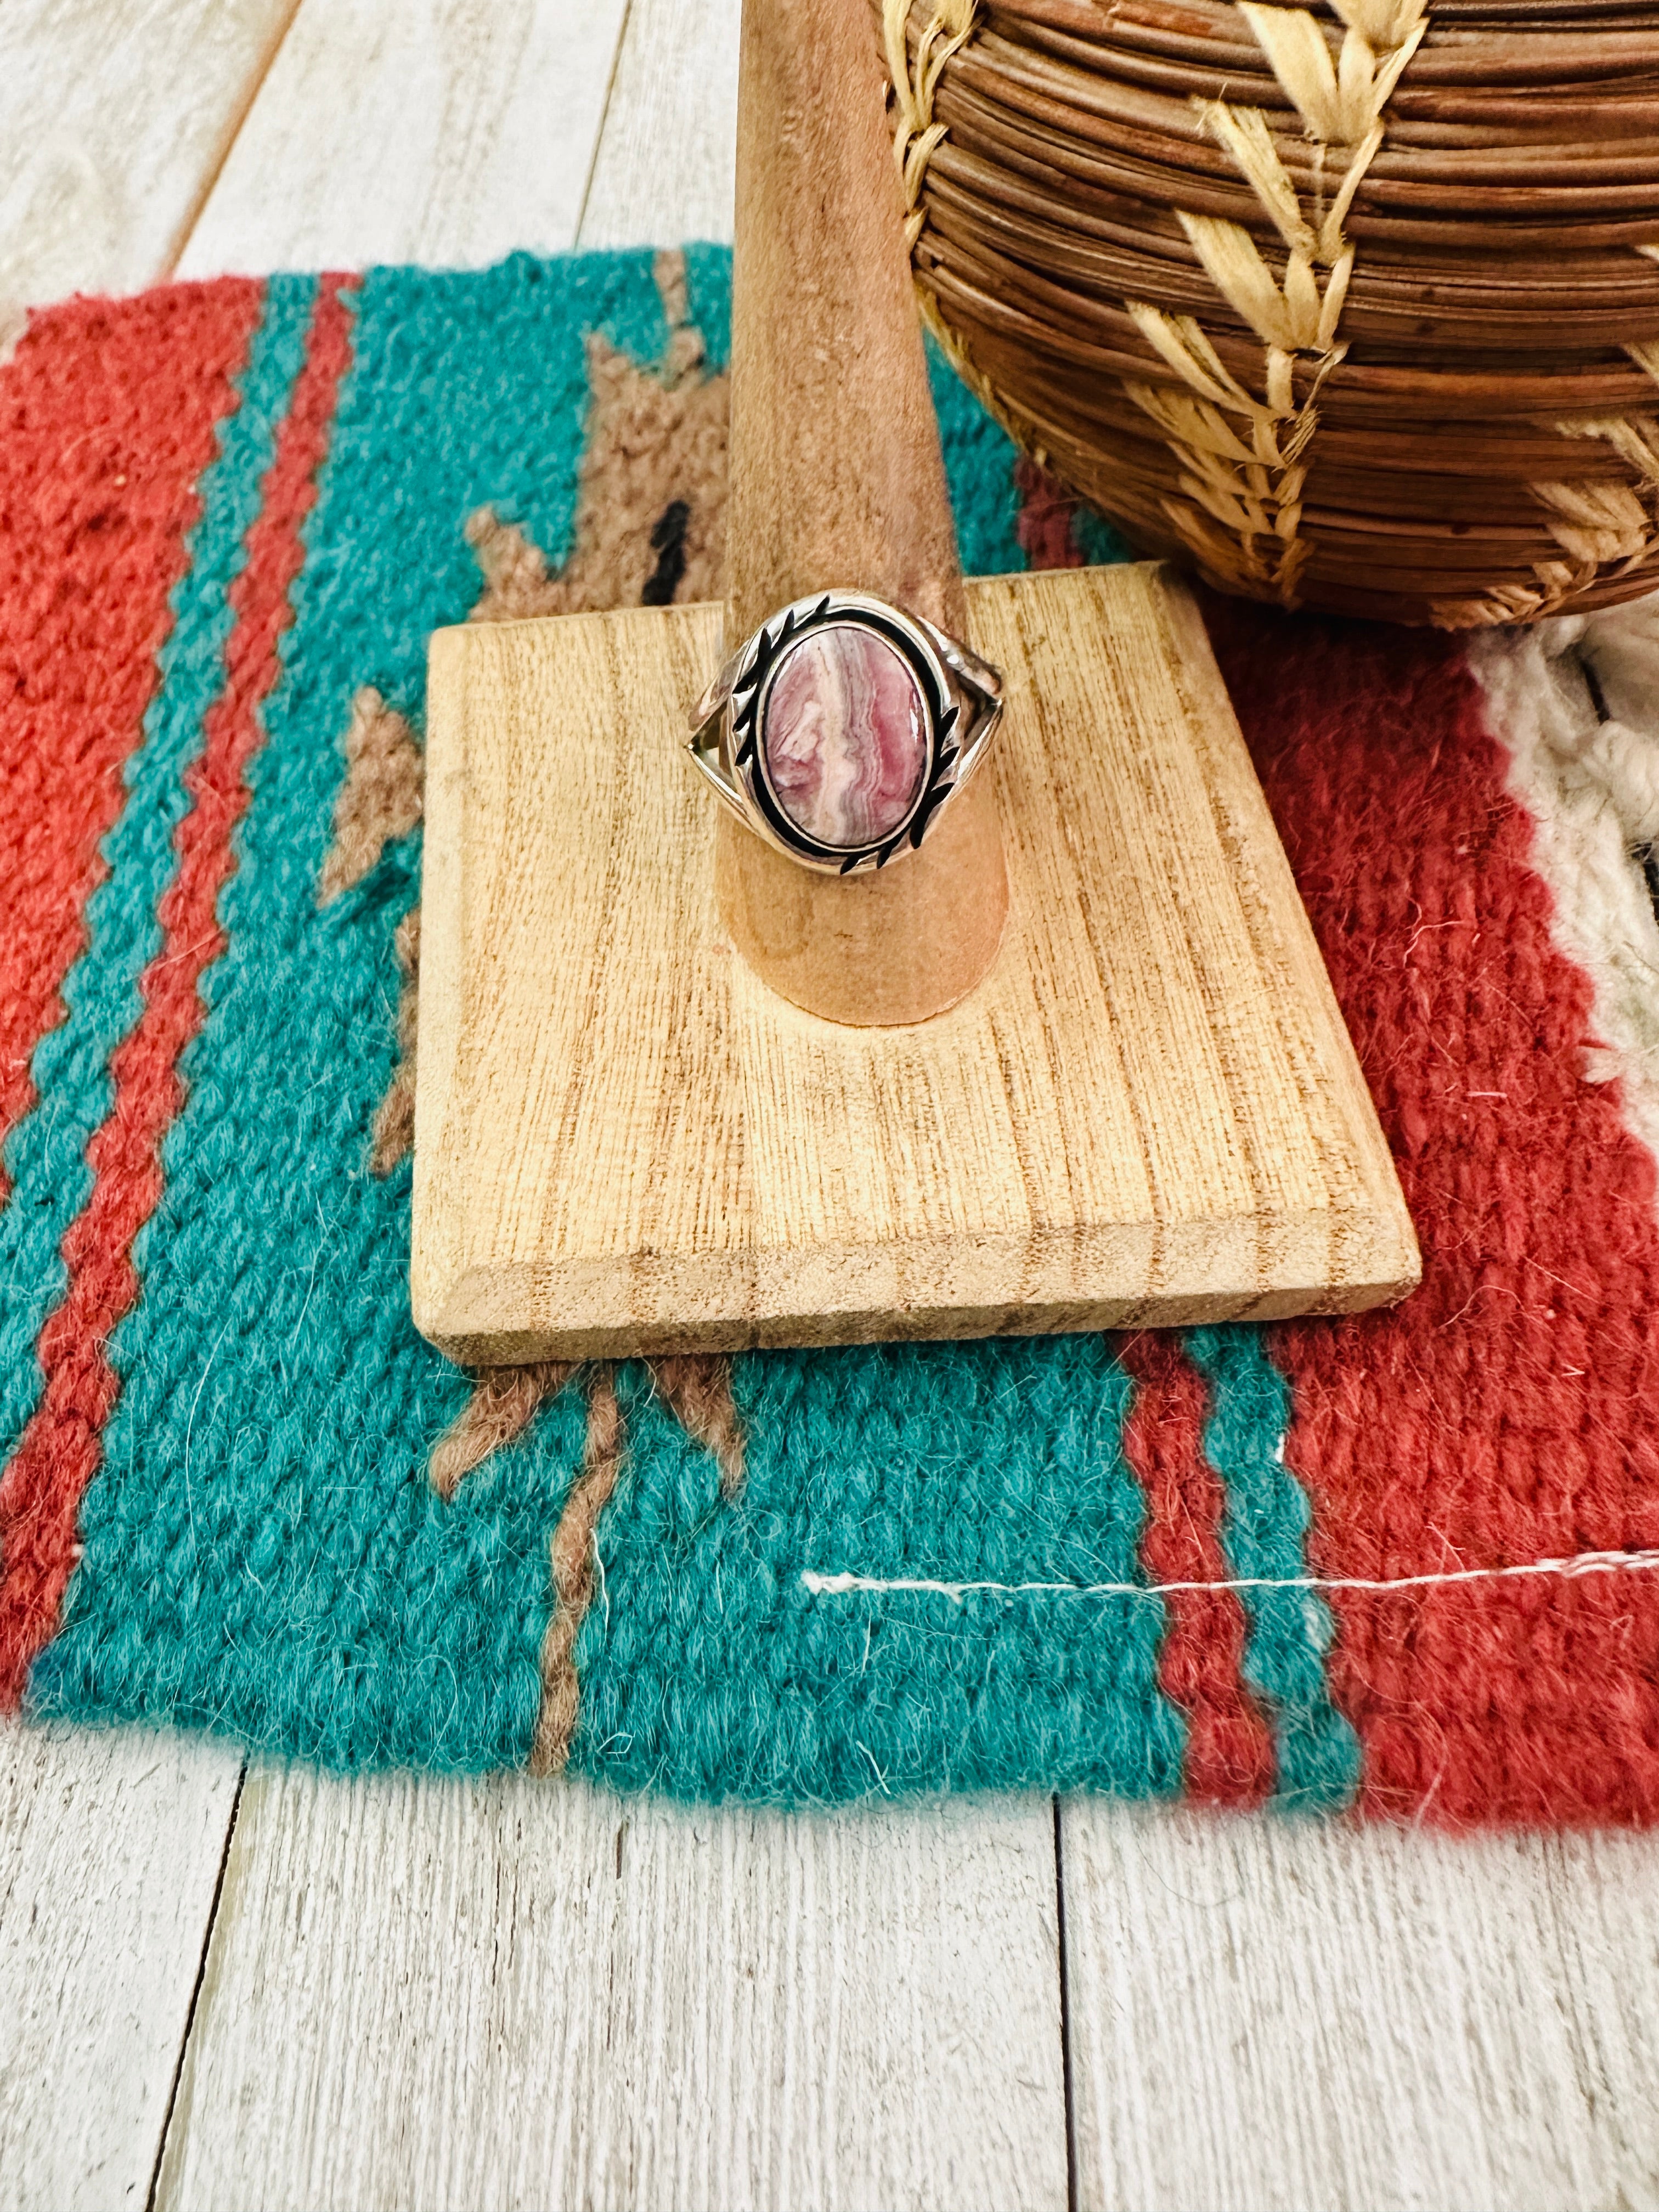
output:
[[[15,1197],[0,1214],[0,1464],[40,1402],[35,1340],[66,1290],[64,1232],[93,1190],[86,1146],[115,1102],[111,1053],[137,1024],[139,978],[161,951],[155,909],[177,872],[173,838],[190,812],[184,774],[201,754],[204,719],[223,686],[230,586],[305,352],[314,292],[312,276],[276,276],[265,290],[237,378],[239,405],[221,422],[219,453],[201,476],[190,566],[173,591],[155,697],[126,763],[126,801],[104,838],[108,878],[86,900],[86,951],[64,980],[64,1022],[35,1046],[35,1106],[7,1144]]]

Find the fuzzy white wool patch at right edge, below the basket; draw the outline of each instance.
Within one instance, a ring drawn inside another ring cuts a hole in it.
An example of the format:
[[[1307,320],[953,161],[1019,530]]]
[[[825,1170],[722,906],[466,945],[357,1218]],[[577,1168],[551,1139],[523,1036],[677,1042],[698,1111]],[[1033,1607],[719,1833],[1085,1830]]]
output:
[[[1571,650],[1613,710],[1599,721]],[[1486,630],[1469,664],[1533,821],[1551,933],[1595,991],[1586,1082],[1617,1082],[1626,1128],[1659,1157],[1659,920],[1635,854],[1659,838],[1659,593],[1522,637]],[[1624,719],[1628,717],[1628,719]]]

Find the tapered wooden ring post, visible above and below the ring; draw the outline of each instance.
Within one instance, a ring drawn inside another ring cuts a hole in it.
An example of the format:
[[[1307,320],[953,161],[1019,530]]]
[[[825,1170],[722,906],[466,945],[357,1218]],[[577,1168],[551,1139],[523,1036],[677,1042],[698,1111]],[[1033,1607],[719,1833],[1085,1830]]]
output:
[[[728,650],[830,586],[964,630],[869,0],[745,0]],[[1002,940],[989,772],[878,874],[812,874],[728,816],[714,865],[741,956],[832,1022],[925,1022],[980,982]]]

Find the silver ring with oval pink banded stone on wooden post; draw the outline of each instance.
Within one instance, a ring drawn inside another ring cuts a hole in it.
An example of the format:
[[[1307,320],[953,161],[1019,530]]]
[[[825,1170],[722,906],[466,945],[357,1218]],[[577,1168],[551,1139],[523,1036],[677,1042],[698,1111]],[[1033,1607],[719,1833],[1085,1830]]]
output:
[[[781,608],[692,708],[690,757],[757,836],[852,876],[914,852],[984,759],[1002,677],[865,591]]]

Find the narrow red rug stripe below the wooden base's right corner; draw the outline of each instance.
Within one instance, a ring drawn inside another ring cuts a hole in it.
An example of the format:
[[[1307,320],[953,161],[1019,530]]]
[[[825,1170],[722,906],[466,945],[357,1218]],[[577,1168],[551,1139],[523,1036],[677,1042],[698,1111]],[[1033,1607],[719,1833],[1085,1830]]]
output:
[[[1141,1566],[1152,1582],[1223,1582],[1225,1491],[1203,1458],[1208,1387],[1181,1340],[1124,1336],[1117,1358],[1135,1376],[1124,1453],[1146,1491]],[[1272,1734],[1239,1668],[1245,1613],[1237,1590],[1175,1590],[1159,1652],[1159,1688],[1188,1719],[1186,1790],[1210,1805],[1259,1805],[1272,1794]]]

